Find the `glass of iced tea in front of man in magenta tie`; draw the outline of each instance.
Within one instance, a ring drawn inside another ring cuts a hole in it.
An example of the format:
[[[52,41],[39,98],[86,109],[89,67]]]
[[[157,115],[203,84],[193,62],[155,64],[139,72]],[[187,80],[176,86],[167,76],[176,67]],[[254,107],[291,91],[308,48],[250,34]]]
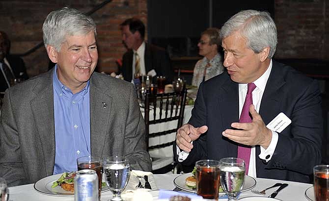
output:
[[[219,161],[199,160],[196,167],[196,194],[206,199],[218,199]]]

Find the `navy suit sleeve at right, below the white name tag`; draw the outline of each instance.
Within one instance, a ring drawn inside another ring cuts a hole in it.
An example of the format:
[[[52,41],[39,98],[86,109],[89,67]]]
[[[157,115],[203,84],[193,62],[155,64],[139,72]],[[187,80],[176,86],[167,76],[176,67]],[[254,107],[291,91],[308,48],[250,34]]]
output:
[[[286,169],[310,175],[313,166],[321,163],[321,97],[316,80],[298,90],[301,92],[296,97],[297,101],[291,112],[290,131],[283,130],[279,134],[274,155],[267,168]]]

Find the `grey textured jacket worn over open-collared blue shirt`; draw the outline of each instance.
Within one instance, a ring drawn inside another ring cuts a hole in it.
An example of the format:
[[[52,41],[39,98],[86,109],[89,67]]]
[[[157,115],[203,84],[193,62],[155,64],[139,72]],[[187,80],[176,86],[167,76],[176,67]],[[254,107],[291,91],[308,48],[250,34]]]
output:
[[[0,177],[4,177],[9,186],[34,183],[53,175],[52,75],[53,70],[35,76],[5,93],[0,116]],[[151,170],[145,123],[133,84],[93,73],[90,78],[90,147],[92,155],[125,155],[132,169]]]

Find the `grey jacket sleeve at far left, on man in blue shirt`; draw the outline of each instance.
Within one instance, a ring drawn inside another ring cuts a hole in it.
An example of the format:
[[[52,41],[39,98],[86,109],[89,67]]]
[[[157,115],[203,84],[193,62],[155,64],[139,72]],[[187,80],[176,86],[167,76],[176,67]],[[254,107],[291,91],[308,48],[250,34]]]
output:
[[[7,181],[8,186],[27,183],[19,134],[8,91],[3,99],[0,116],[0,177]]]

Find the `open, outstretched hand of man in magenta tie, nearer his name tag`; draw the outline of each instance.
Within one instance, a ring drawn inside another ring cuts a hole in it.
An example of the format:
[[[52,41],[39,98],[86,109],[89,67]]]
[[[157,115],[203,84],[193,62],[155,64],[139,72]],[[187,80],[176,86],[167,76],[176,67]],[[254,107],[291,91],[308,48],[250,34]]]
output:
[[[267,149],[272,140],[272,131],[266,127],[254,105],[250,105],[249,112],[252,117],[251,123],[232,123],[231,126],[239,130],[226,129],[222,135],[243,145],[260,145]]]

